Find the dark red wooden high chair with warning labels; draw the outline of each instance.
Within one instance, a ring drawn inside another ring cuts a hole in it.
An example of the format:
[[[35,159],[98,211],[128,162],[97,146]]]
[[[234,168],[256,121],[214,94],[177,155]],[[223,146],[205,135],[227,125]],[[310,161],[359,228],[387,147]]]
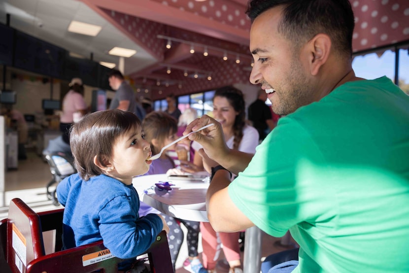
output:
[[[63,212],[64,209],[57,209],[37,214],[18,198],[10,202],[8,218],[0,222],[0,241],[11,272],[118,272],[118,263],[123,260],[112,256],[102,241],[58,251],[62,247]],[[45,254],[45,231],[55,231],[54,253]],[[147,254],[151,272],[173,272],[164,231],[142,254]]]

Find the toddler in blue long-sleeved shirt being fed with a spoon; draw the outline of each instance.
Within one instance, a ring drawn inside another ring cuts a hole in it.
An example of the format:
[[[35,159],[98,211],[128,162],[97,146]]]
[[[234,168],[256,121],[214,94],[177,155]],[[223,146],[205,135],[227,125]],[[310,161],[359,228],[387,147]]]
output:
[[[161,215],[139,217],[133,176],[149,170],[152,155],[136,115],[122,110],[98,111],[72,126],[70,144],[78,173],[57,187],[65,206],[64,248],[99,240],[119,258],[119,270],[132,268],[135,257],[169,227]]]

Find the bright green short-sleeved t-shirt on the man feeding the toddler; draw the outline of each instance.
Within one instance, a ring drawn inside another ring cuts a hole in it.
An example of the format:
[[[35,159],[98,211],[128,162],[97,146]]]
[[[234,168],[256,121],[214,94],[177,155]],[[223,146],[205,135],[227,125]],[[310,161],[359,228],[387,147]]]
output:
[[[229,196],[266,233],[290,230],[295,272],[409,272],[409,96],[382,77],[300,107]]]

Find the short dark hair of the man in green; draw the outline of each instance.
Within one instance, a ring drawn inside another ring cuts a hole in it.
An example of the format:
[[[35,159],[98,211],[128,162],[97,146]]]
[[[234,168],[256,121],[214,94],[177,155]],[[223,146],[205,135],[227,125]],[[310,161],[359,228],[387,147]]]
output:
[[[246,14],[253,22],[261,13],[277,6],[284,7],[278,32],[296,48],[323,33],[331,37],[336,50],[352,55],[355,22],[348,0],[251,0]]]

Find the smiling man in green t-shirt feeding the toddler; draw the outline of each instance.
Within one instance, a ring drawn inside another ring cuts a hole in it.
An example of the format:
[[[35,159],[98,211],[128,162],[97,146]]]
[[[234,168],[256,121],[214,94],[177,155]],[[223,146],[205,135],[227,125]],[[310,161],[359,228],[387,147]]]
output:
[[[208,116],[187,127],[215,123],[189,136],[214,167],[211,225],[290,230],[293,272],[409,272],[409,97],[386,77],[355,76],[349,1],[253,0],[247,14],[250,81],[284,117],[255,155],[228,149]]]

